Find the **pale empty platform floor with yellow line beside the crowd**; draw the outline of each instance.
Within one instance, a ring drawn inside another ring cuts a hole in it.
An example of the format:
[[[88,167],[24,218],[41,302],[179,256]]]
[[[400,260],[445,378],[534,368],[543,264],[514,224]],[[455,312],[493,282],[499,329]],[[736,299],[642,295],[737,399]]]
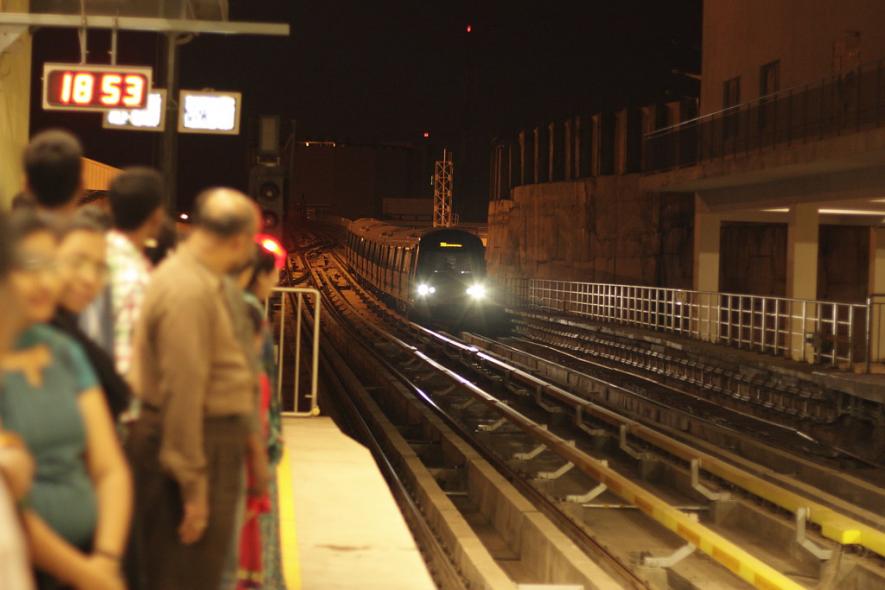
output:
[[[288,590],[433,589],[371,453],[331,418],[286,418],[280,527]]]

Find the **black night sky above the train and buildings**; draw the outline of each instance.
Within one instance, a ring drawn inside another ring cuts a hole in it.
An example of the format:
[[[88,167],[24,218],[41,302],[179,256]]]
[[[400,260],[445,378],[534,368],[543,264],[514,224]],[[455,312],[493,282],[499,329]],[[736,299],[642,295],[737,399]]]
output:
[[[254,118],[279,114],[284,137],[294,119],[299,139],[418,144],[429,131],[433,150],[455,151],[456,211],[484,218],[494,137],[697,92],[678,72],[700,69],[701,0],[540,4],[232,0],[233,19],[288,22],[292,35],[204,35],[181,48],[181,87],[242,91],[244,112],[239,137],[179,136],[180,208],[205,186],[245,188]],[[107,63],[109,38],[90,33],[91,63]],[[163,45],[121,34],[119,63],[153,65],[162,81]],[[78,60],[75,31],[35,34],[32,130],[72,129],[89,157],[115,166],[156,164],[159,134],[103,131],[99,115],[41,110],[42,63]]]

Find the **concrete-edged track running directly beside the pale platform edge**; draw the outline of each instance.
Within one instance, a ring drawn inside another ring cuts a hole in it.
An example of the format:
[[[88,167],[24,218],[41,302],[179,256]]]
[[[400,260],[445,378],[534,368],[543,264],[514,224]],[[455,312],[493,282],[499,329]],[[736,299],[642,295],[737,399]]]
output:
[[[360,430],[376,456],[384,466],[397,466],[390,479],[395,489],[407,490],[408,498],[401,502],[404,512],[410,524],[417,525],[416,536],[430,541],[428,563],[441,587],[646,587],[626,569],[616,572],[625,579],[615,581],[577,551],[457,433],[408,395],[420,391],[420,385],[371,352],[377,334],[365,332],[368,324],[342,322],[342,308],[335,300],[331,303],[324,328],[336,342],[334,349],[345,351],[348,358],[344,363],[344,355],[326,347],[328,365],[334,367],[331,380],[341,382],[339,397],[353,407],[349,414],[366,425]],[[335,318],[332,322],[329,314]],[[402,491],[396,495],[404,499]],[[511,537],[520,540],[519,546],[512,546]],[[620,568],[618,562],[612,564]]]

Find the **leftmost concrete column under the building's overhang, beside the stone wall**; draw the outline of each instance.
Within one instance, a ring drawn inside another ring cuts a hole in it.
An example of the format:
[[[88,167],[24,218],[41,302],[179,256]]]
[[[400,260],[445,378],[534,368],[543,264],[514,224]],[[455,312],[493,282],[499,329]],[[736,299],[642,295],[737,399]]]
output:
[[[722,216],[710,212],[703,199],[695,196],[694,205],[694,273],[698,295],[694,313],[697,332],[701,338],[715,342],[719,339],[719,258]]]

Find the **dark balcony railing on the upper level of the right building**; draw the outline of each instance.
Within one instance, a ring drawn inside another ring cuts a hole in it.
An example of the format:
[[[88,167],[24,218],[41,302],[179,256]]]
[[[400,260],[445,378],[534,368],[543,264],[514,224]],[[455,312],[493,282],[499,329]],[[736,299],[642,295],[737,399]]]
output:
[[[817,140],[885,122],[885,64],[866,64],[815,84],[648,133],[644,173],[661,172],[765,147]]]

